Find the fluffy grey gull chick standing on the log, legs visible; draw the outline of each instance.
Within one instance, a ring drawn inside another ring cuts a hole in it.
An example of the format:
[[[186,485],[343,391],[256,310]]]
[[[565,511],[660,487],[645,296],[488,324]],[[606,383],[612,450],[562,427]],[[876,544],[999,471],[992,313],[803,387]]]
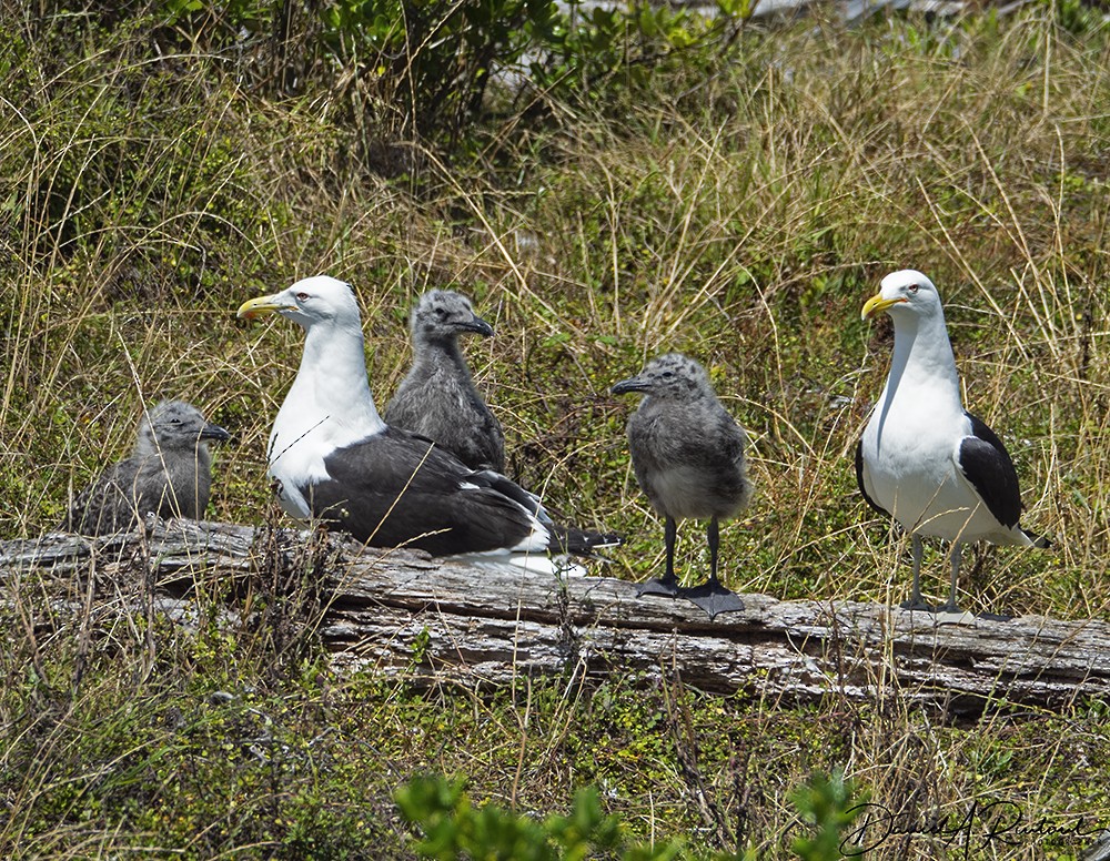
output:
[[[642,392],[645,397],[628,418],[628,445],[636,480],[652,507],[665,518],[667,567],[640,595],[689,598],[713,618],[743,610],[743,601],[717,579],[718,520],[734,517],[751,498],[744,448],[747,435],[727,413],[709,385],[705,368],[680,353],[648,362],[613,394]],[[709,520],[709,580],[693,589],[675,577],[677,520]]]

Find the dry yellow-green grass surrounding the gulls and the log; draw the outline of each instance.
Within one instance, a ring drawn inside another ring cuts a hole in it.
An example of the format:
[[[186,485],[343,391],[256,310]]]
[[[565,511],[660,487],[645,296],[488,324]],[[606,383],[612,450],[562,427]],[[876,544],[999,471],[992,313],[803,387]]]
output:
[[[511,472],[568,519],[629,536],[610,573],[656,570],[662,525],[629,473],[632,405],[608,386],[682,350],[753,438],[758,496],[724,530],[727,580],[896,601],[905,547],[859,499],[850,455],[890,346],[859,307],[914,266],[946,298],[969,406],[1016,456],[1025,524],[1054,540],[985,550],[968,604],[1106,618],[1104,30],[1072,37],[1037,7],[1001,23],[808,22],[741,48],[709,77],[480,130],[478,155],[402,148],[413,171],[393,180],[360,155],[372,132],[336,121],[356,88],[266,100],[210,58],[154,62],[121,36],[0,48],[21,70],[0,83],[0,537],[53,528],[142,405],[171,395],[235,435],[210,517],[263,520],[264,440],[301,335],[233,311],[329,272],[359,291],[381,403],[414,297],[475,298],[497,336],[467,354]],[[698,527],[680,546],[704,566]],[[927,564],[936,596],[939,549]],[[910,817],[998,800],[1056,834],[891,838],[877,858],[1070,857],[1060,832],[1110,824],[1100,703],[959,728],[896,701],[798,711],[620,679],[415,696],[311,658],[268,675],[271,641],[215,627],[139,617],[90,639],[84,594],[68,612],[56,588],[29,578],[2,612],[13,858],[405,857],[390,793],[430,768],[531,811],[594,782],[639,833],[768,858],[789,854],[791,788],[835,764]],[[222,689],[234,699],[209,699]]]

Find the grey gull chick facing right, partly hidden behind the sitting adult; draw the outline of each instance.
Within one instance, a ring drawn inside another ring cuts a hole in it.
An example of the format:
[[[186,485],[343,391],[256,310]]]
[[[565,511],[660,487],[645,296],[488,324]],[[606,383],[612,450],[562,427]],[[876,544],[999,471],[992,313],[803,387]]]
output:
[[[505,434],[474,387],[458,336],[493,327],[458,293],[425,293],[412,314],[413,366],[385,407],[385,422],[435,440],[472,469],[505,472]]]

